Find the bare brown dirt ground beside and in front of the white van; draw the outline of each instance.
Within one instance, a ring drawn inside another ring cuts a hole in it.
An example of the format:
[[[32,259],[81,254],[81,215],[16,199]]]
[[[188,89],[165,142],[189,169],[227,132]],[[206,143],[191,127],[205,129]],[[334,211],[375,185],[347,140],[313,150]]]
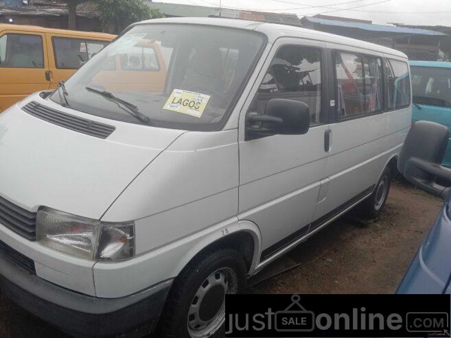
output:
[[[395,182],[380,219],[341,217],[252,278],[248,292],[393,293],[441,205]],[[0,338],[10,337],[67,336],[0,294]]]

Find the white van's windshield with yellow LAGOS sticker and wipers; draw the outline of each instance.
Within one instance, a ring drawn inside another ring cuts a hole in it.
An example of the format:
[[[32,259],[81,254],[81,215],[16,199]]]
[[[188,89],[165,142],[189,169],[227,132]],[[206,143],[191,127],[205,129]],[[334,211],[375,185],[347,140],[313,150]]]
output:
[[[50,98],[108,119],[218,130],[263,47],[264,36],[240,29],[137,25]]]

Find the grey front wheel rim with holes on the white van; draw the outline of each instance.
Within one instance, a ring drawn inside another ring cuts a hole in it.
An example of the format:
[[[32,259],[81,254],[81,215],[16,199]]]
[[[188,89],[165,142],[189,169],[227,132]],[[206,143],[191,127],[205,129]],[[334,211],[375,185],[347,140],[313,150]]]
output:
[[[232,269],[218,269],[205,279],[189,306],[189,335],[208,338],[216,333],[225,321],[225,295],[237,291],[238,278]]]

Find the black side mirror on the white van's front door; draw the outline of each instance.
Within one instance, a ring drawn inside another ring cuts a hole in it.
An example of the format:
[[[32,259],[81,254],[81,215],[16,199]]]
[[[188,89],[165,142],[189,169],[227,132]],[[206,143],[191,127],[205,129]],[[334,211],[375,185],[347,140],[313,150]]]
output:
[[[246,119],[246,139],[275,134],[301,135],[310,128],[308,105],[289,99],[270,99],[264,115],[249,113]]]

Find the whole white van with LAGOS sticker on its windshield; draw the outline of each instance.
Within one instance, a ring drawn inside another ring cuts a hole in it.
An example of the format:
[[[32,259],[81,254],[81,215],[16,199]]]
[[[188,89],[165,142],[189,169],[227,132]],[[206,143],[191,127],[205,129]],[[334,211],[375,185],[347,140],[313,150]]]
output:
[[[139,75],[157,58],[155,84]],[[246,277],[360,202],[380,213],[410,101],[407,58],[386,47],[233,19],[132,25],[0,114],[0,288],[71,333],[211,337]]]

